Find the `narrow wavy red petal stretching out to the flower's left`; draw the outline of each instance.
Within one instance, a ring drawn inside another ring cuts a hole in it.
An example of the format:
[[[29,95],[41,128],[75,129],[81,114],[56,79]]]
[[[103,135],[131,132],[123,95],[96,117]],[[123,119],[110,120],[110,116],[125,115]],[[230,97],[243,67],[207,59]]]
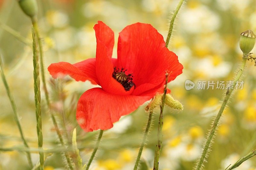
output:
[[[48,67],[48,71],[53,78],[69,75],[76,81],[90,80],[92,84],[99,85],[95,67],[96,59],[90,58],[75,64],[70,64],[67,62],[52,63]]]

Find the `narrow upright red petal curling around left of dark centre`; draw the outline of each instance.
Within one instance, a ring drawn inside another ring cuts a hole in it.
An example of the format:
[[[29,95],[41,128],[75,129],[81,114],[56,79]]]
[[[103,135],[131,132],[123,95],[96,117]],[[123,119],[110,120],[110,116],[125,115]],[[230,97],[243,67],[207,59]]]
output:
[[[112,77],[114,71],[113,62],[116,63],[116,59],[111,59],[114,32],[101,21],[98,21],[98,24],[93,28],[97,39],[96,74],[101,87],[112,94],[131,94],[134,87],[130,91],[125,91],[124,87]]]

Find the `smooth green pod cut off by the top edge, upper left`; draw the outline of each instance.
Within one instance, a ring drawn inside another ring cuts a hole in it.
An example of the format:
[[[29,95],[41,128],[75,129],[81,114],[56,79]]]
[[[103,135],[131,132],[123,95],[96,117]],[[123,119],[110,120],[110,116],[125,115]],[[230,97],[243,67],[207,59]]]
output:
[[[33,18],[36,16],[38,11],[36,0],[19,0],[19,5],[22,11],[29,17]]]

